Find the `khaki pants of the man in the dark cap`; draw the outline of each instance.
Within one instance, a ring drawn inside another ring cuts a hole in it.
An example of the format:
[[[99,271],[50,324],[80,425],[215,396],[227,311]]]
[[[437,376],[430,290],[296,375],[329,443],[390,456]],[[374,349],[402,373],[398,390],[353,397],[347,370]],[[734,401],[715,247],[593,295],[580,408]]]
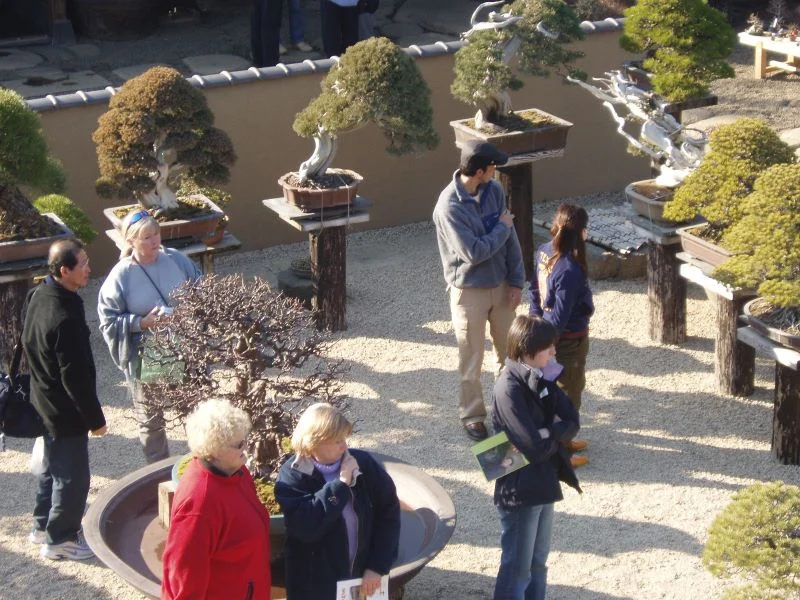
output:
[[[495,375],[506,360],[506,337],[515,312],[508,302],[508,285],[496,288],[450,288],[450,313],[458,342],[458,371],[461,386],[458,416],[464,425],[483,421],[486,406],[481,388],[486,321],[497,361]]]

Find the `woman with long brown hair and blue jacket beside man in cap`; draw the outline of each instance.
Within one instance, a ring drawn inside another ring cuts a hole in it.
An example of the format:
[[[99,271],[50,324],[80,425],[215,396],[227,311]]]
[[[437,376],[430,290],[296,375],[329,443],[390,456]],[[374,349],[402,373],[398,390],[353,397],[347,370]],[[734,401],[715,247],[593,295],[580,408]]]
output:
[[[558,330],[556,360],[564,367],[558,385],[581,410],[586,387],[586,356],[589,353],[589,319],[594,314],[586,263],[589,215],[574,204],[562,204],[553,217],[552,241],[536,251],[531,277],[530,314],[542,317]],[[569,450],[580,452],[588,444],[573,440]],[[572,466],[589,462],[573,456]]]

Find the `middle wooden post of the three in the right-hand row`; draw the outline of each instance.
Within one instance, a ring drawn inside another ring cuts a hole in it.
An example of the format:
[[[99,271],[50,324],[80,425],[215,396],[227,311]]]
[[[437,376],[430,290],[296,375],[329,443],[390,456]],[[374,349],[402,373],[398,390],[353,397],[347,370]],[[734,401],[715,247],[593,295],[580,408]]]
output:
[[[714,296],[717,309],[714,375],[723,394],[749,396],[754,390],[756,351],[737,339],[743,298]],[[749,298],[748,298],[749,299]]]

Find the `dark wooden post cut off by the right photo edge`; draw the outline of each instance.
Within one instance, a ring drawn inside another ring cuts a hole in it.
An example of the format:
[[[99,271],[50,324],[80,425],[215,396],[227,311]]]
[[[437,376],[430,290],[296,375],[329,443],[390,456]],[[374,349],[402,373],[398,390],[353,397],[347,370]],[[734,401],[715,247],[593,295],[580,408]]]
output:
[[[775,363],[772,452],[785,465],[800,465],[800,373]]]

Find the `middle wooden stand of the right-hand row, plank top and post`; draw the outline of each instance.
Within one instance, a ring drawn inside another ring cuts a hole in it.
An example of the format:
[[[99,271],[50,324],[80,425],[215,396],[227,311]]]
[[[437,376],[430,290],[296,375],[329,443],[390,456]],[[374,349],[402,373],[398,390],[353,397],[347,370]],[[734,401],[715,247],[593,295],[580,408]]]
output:
[[[744,303],[755,296],[753,290],[731,288],[710,276],[713,267],[689,254],[679,252],[682,278],[709,292],[716,303],[714,375],[723,394],[749,396],[753,393],[755,350],[738,340],[739,315]]]

